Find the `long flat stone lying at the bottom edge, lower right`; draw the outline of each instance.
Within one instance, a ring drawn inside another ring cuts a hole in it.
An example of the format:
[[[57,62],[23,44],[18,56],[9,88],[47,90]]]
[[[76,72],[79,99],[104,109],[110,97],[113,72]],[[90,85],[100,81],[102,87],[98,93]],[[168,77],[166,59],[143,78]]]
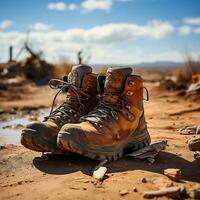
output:
[[[170,187],[162,190],[157,191],[148,191],[144,192],[143,197],[146,199],[152,199],[155,197],[169,197],[179,199],[181,195],[181,188],[180,187]]]

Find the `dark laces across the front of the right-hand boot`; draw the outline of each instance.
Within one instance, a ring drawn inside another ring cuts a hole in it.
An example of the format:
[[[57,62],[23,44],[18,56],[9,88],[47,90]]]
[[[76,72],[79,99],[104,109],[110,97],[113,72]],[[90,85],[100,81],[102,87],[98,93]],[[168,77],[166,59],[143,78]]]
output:
[[[101,101],[102,98],[109,96],[109,97],[117,97],[118,101],[115,104],[106,103]],[[120,98],[119,94],[102,94],[99,95],[99,104],[96,108],[89,112],[87,115],[81,117],[81,121],[88,121],[96,126],[103,127],[103,123],[105,121],[109,121],[111,119],[118,120],[118,113],[122,108],[128,110],[129,103],[126,98]],[[130,111],[129,111],[130,112]]]

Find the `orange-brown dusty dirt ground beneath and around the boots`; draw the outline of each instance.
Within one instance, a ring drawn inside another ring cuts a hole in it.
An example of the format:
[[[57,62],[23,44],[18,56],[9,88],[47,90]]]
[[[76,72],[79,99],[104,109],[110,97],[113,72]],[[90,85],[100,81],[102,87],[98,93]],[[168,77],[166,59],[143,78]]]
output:
[[[0,150],[0,199],[139,200],[148,190],[172,185],[184,185],[191,190],[200,186],[200,162],[194,160],[187,147],[187,140],[193,136],[176,132],[176,128],[200,124],[200,112],[190,112],[200,107],[199,102],[157,90],[153,83],[146,83],[146,87],[150,101],[145,102],[145,114],[152,142],[168,141],[166,150],[157,156],[154,164],[123,158],[108,163],[106,178],[97,182],[91,177],[96,161],[78,155],[51,156],[49,160],[38,161],[35,157],[40,153],[9,145]],[[1,108],[50,105],[52,93],[46,87],[28,91],[15,102],[2,99]],[[164,176],[166,168],[181,169],[182,181],[173,182]],[[142,182],[143,178],[146,183]],[[121,196],[121,190],[127,194]]]

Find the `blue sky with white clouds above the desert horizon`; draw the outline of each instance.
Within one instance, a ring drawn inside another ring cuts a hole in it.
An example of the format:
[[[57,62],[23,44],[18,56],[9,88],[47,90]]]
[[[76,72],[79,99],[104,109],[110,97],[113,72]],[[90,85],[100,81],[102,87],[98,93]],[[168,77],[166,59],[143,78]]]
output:
[[[134,64],[200,56],[199,0],[1,0],[0,59],[30,45],[49,61]],[[22,54],[19,59],[26,55]]]

